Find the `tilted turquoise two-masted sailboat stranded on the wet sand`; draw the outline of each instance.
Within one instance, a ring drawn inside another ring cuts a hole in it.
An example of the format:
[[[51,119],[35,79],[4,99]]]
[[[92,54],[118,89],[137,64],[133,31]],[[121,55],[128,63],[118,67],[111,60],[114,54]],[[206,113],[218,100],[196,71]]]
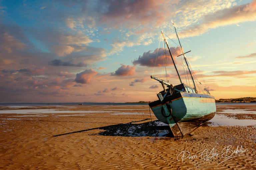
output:
[[[159,121],[168,124],[173,135],[177,137],[190,133],[195,128],[212,119],[216,112],[216,105],[215,98],[210,95],[210,92],[205,86],[201,86],[202,83],[199,82],[192,72],[191,66],[185,55],[187,52],[184,53],[183,51],[175,25],[174,29],[179,42],[179,48],[182,51],[178,56],[183,57],[183,66],[188,70],[187,73],[192,80],[194,87],[190,87],[182,82],[169,43],[165,38],[164,32],[161,31],[181,84],[174,86],[169,83],[168,80],[165,81],[152,75],[151,78],[159,81],[164,90],[157,94],[159,100],[149,103],[149,106],[156,118]]]

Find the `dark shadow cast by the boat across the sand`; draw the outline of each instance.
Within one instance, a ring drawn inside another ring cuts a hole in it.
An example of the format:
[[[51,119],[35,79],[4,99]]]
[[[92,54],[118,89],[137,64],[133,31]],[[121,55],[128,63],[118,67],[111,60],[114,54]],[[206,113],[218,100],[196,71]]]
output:
[[[78,133],[78,132],[89,132],[90,130],[103,130],[98,133],[91,133],[89,135],[103,135],[103,136],[168,136],[173,137],[173,134],[170,133],[169,126],[158,120],[140,123],[142,121],[147,121],[150,119],[144,119],[140,121],[133,121],[126,124],[117,124],[104,126],[99,128],[90,128],[85,130],[73,131],[69,133],[53,135],[53,137]]]

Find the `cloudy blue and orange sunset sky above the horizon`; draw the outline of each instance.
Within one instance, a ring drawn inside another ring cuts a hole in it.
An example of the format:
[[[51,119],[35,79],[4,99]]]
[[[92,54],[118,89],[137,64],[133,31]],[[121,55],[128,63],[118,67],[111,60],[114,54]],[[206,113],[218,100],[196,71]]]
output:
[[[155,101],[172,21],[215,99],[256,97],[256,0],[0,0],[0,102]]]

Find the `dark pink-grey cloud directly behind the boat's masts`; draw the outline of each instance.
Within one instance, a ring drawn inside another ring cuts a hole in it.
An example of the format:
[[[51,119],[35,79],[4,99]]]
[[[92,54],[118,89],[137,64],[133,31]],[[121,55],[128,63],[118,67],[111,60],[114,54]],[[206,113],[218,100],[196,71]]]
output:
[[[167,56],[169,54],[169,51],[166,51]],[[172,56],[174,58],[174,61],[176,62],[176,56],[180,55],[182,53],[182,51],[180,50],[180,47],[175,47],[175,48],[171,48],[171,53]],[[158,56],[157,56],[158,55]],[[157,56],[157,58],[156,58]],[[148,51],[148,52],[144,52],[143,55],[139,56],[139,58],[133,61],[134,65],[141,65],[141,66],[148,66],[148,67],[160,67],[163,66],[163,63],[165,63],[165,56],[164,56],[164,48],[158,48],[155,49],[153,52]],[[167,65],[173,65],[172,59],[171,57],[167,57]]]

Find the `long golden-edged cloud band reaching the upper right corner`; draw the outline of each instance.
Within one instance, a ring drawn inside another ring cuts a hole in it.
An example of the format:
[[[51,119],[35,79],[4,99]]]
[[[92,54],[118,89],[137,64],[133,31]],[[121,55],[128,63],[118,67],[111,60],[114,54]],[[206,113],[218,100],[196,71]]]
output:
[[[214,13],[205,15],[200,25],[193,25],[181,32],[183,37],[193,37],[202,35],[209,29],[217,27],[256,21],[256,1],[240,6],[233,6],[218,10]]]

